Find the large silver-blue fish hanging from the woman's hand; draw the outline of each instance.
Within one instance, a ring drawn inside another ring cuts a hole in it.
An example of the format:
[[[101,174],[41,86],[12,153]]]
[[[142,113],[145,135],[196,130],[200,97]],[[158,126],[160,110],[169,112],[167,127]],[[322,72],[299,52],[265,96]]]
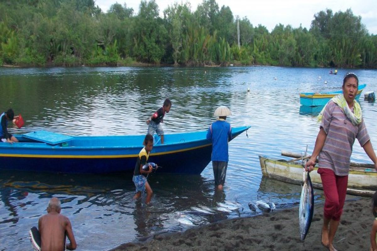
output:
[[[311,220],[313,218],[313,208],[313,186],[311,184],[310,175],[308,172],[307,178],[305,179],[304,185],[302,187],[300,198],[299,224],[301,241],[305,240],[305,237],[309,231]]]

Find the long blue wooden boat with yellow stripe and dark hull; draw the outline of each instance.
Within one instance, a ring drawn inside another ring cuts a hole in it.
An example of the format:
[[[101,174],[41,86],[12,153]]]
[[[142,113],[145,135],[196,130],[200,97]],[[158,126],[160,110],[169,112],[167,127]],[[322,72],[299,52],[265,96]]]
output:
[[[232,128],[232,139],[250,126]],[[155,137],[149,161],[158,172],[200,174],[211,160],[207,131]],[[19,143],[0,142],[0,165],[6,170],[63,173],[131,172],[145,135],[68,136],[47,131],[15,135]]]

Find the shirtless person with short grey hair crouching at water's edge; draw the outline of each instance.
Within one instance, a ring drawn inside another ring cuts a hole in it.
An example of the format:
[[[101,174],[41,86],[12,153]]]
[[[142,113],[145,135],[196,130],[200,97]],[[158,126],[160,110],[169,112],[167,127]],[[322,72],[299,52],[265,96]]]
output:
[[[72,225],[69,219],[60,214],[60,200],[56,197],[50,199],[47,214],[41,216],[38,221],[38,230],[41,236],[41,250],[61,251],[66,248],[77,248]],[[70,243],[66,245],[66,237]]]

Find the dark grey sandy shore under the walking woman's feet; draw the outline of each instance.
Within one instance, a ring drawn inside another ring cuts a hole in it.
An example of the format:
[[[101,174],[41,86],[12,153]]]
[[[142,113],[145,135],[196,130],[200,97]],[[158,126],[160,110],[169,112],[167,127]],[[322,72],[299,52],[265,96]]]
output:
[[[155,234],[146,242],[125,243],[121,250],[327,250],[320,240],[323,205],[316,204],[309,233],[302,243],[298,207],[248,218],[227,219],[183,233]],[[337,250],[369,250],[374,217],[371,198],[346,200],[334,239]]]

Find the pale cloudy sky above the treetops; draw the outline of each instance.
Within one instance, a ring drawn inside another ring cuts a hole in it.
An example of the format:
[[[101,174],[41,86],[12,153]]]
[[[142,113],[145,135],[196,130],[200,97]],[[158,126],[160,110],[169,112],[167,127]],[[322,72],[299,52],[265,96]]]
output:
[[[162,16],[162,11],[174,2],[174,0],[155,0]],[[141,0],[95,0],[103,12],[107,12],[114,3],[124,5],[127,8],[133,8],[135,14],[139,12]],[[183,1],[184,3],[186,0]],[[188,0],[191,3],[191,11],[195,11],[202,0]],[[337,11],[345,12],[351,8],[356,16],[361,16],[362,23],[368,29],[369,34],[377,34],[377,0],[216,0],[221,6],[229,6],[233,17],[238,15],[241,19],[247,17],[253,26],[262,24],[271,30],[276,24],[287,26],[290,24],[293,28],[302,27],[310,28],[314,15],[320,11],[331,9],[333,13]]]

